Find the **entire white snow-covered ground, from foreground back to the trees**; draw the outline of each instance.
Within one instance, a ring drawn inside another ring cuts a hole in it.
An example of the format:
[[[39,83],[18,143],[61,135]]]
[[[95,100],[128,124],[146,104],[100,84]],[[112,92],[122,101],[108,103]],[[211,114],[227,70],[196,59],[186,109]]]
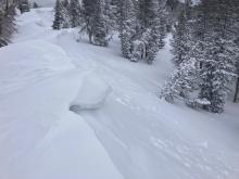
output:
[[[0,179],[239,179],[239,110],[168,104],[167,46],[153,65],[52,30],[51,8],[17,17],[0,49]]]

